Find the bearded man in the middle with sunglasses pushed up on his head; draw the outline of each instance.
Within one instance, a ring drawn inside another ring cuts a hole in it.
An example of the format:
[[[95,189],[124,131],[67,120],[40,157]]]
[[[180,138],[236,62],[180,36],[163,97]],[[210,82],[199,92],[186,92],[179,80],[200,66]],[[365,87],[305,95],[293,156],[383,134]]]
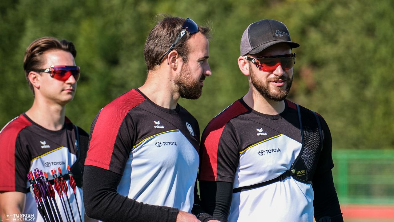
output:
[[[208,38],[209,28],[189,18],[165,17],[151,30],[145,84],[93,120],[84,172],[88,216],[116,222],[213,219],[194,198],[199,126],[178,104],[180,97],[199,98],[212,74]]]

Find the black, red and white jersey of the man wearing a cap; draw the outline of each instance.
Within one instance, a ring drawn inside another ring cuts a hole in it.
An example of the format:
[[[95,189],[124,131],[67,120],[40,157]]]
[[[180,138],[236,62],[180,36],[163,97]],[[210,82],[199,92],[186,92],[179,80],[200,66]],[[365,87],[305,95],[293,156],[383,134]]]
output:
[[[239,190],[288,171],[301,153],[303,138],[296,104],[288,100],[285,104],[279,115],[266,115],[240,99],[212,119],[201,139],[199,180],[231,182],[233,189]],[[323,149],[313,160],[317,164],[315,175],[333,167],[331,134],[324,119],[318,116],[318,120]],[[306,122],[303,124],[308,128]],[[287,177],[266,186],[233,191],[228,220],[312,221],[313,199],[312,184]]]

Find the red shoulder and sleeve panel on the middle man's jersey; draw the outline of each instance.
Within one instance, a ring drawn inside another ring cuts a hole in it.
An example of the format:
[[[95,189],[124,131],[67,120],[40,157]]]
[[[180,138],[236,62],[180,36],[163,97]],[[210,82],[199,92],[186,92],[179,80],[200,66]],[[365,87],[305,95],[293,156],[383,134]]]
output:
[[[144,100],[145,98],[137,90],[132,89],[100,111],[93,132],[91,132],[85,165],[109,169],[113,146],[123,119],[130,109]]]

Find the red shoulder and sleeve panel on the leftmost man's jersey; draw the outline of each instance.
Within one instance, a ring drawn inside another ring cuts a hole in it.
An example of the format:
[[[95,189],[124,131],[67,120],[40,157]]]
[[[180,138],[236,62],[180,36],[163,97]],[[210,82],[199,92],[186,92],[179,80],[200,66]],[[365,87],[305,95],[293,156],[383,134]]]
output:
[[[0,131],[0,191],[15,191],[15,144],[20,131],[31,124],[21,114]]]

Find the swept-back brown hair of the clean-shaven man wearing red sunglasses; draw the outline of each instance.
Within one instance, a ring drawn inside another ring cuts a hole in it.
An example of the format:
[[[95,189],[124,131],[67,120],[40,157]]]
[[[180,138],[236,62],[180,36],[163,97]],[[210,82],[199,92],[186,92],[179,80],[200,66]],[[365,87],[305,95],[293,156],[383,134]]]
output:
[[[26,49],[23,58],[23,69],[25,71],[25,77],[29,84],[29,87],[33,91],[33,95],[34,95],[33,86],[32,83],[30,83],[28,77],[29,71],[40,69],[40,66],[45,62],[43,61],[41,55],[43,55],[43,53],[45,53],[46,51],[53,49],[60,49],[69,52],[72,54],[72,56],[74,56],[74,58],[76,57],[75,46],[71,41],[67,41],[67,40],[59,41],[53,37],[43,37],[34,40],[32,43],[30,43],[29,47]]]

